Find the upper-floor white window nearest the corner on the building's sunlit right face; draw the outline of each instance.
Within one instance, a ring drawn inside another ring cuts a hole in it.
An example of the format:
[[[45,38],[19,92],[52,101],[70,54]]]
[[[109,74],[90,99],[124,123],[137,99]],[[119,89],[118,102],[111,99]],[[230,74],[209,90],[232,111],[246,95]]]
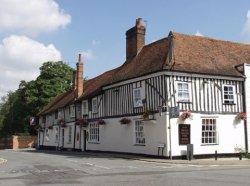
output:
[[[177,98],[179,102],[190,102],[190,87],[188,82],[177,83]]]

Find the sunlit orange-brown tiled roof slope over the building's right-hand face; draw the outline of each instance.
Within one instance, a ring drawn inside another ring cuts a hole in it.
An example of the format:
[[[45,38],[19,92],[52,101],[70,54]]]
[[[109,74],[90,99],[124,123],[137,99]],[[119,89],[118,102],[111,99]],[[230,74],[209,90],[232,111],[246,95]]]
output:
[[[235,66],[250,62],[250,45],[173,33],[172,70],[241,76]]]

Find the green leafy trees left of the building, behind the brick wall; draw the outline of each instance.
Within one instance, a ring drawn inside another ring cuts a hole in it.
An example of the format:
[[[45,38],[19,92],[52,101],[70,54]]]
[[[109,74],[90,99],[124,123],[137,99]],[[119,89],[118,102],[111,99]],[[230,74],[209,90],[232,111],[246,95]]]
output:
[[[0,137],[31,133],[29,118],[37,115],[53,97],[71,88],[73,69],[67,64],[46,62],[33,81],[21,81],[19,88],[9,92],[0,102]]]

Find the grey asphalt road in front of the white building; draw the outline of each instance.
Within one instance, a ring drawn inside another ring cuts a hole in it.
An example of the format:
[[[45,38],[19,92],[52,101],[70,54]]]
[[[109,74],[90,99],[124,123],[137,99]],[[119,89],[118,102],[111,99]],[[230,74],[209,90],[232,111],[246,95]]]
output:
[[[0,150],[0,186],[22,185],[250,185],[250,166],[154,163],[140,160]]]

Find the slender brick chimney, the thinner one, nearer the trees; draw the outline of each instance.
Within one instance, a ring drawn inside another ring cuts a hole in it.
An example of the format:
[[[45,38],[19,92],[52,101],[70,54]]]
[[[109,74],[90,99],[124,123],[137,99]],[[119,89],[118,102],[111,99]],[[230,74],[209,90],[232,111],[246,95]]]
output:
[[[75,98],[79,98],[83,93],[83,61],[82,54],[78,54],[78,61],[76,63],[75,72]]]

